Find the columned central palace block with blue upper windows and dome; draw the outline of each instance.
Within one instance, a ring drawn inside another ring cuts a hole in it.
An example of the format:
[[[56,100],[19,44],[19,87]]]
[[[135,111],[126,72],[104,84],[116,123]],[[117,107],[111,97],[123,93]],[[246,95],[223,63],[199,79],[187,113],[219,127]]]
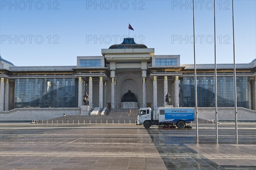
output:
[[[165,106],[170,93],[179,105],[179,55],[154,55],[154,48],[137,44],[133,38],[102,49],[102,56],[77,57],[78,107],[89,95],[89,108],[137,109]],[[123,101],[126,93],[134,100]],[[87,108],[87,107],[86,107]]]

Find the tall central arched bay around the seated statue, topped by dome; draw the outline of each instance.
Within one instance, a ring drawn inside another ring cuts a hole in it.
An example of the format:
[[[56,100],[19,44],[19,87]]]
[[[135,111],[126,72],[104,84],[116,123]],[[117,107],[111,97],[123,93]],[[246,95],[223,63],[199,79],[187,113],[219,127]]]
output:
[[[102,55],[111,72],[111,107],[128,108],[127,102],[122,103],[122,97],[128,90],[134,93],[139,105],[146,106],[145,78],[154,49],[135,43],[133,38],[124,38],[123,43],[102,49]],[[131,103],[130,108],[140,107],[135,103]]]

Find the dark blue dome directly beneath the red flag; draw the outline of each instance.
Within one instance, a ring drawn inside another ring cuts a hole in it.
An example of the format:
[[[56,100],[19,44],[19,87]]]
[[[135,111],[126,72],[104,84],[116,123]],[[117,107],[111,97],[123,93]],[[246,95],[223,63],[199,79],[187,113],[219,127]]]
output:
[[[120,44],[110,46],[108,49],[147,49],[144,44],[137,44],[134,42],[134,38],[124,38],[124,41]]]

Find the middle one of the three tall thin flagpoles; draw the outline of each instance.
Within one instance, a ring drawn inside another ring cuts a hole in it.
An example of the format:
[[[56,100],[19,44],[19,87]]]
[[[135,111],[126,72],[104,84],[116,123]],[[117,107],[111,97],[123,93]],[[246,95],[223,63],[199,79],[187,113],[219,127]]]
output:
[[[217,103],[217,63],[216,63],[216,27],[215,27],[215,0],[214,0],[214,61],[215,61],[215,129],[216,129],[216,139],[218,143],[218,103]]]

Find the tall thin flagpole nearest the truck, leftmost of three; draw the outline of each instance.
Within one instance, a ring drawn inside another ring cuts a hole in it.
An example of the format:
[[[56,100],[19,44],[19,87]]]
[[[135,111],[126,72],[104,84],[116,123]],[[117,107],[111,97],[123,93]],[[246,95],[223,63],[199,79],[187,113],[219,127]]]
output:
[[[195,61],[195,2],[193,0],[193,29],[194,29],[194,67],[195,67],[195,118],[196,118],[196,138],[198,139],[198,108],[197,108],[197,78]]]

